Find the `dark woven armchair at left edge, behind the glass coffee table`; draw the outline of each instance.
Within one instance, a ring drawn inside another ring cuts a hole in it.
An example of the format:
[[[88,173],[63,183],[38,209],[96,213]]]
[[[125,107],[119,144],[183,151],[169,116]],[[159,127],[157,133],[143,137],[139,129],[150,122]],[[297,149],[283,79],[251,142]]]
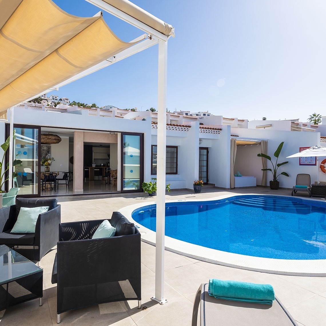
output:
[[[49,206],[49,210],[38,215],[35,233],[10,233],[21,207],[40,206]],[[16,205],[0,209],[0,244],[14,248],[29,260],[40,261],[58,242],[60,209],[56,199],[16,198]]]

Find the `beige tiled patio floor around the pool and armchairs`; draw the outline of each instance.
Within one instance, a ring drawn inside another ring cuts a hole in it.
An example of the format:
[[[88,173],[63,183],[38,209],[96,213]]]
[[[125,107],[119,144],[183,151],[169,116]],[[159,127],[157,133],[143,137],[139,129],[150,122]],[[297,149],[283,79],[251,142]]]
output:
[[[268,188],[236,189],[223,191],[204,187],[200,194],[191,191],[171,191],[167,200],[213,198],[227,193],[263,193],[290,195],[290,190],[270,190]],[[303,196],[307,197],[305,194]],[[317,198],[316,198],[317,199]],[[110,198],[58,198],[62,222],[110,218],[113,211],[138,202],[149,202],[148,196],[125,196]],[[155,200],[155,198],[154,198]],[[1,312],[1,326],[56,324],[56,286],[51,284],[52,264],[55,250],[40,262],[44,269],[43,305],[38,300],[20,304]],[[191,323],[192,304],[201,283],[209,278],[234,279],[247,282],[270,283],[275,294],[288,308],[299,326],[326,325],[326,277],[303,277],[259,273],[215,265],[187,258],[165,251],[164,296],[169,300],[159,305],[150,300],[155,290],[155,247],[142,243],[142,307],[137,301],[100,304],[61,315],[61,325],[96,326],[149,326],[177,325]],[[241,323],[239,323],[241,325]]]

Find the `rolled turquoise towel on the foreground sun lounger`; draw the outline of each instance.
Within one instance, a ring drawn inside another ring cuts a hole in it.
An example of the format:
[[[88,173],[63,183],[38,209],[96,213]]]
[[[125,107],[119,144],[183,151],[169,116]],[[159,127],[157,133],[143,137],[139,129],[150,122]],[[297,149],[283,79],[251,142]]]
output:
[[[217,299],[272,304],[275,299],[274,289],[270,284],[256,284],[239,281],[210,279],[208,294]]]

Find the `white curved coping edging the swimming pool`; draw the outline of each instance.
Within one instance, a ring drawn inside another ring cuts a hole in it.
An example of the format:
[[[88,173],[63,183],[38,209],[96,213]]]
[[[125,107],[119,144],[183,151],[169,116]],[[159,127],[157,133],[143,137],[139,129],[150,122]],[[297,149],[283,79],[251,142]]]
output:
[[[257,194],[245,194],[256,195]],[[200,200],[166,200],[167,203],[179,202],[179,201],[213,201],[224,198],[230,198],[235,196],[244,196],[244,194],[232,194],[223,195],[209,199]],[[271,196],[260,195],[259,196]],[[289,197],[291,196],[283,196]],[[298,198],[298,197],[297,197]],[[302,199],[306,199],[301,197]],[[311,198],[309,200],[315,201]],[[316,200],[318,201],[318,200]],[[146,204],[134,204],[126,206],[119,210],[121,214],[126,216],[128,220],[133,222],[141,233],[142,241],[149,244],[156,244],[156,232],[145,228],[131,217],[132,212],[135,209],[156,204],[156,201],[147,202]],[[309,260],[297,260],[297,259],[274,259],[274,258],[262,258],[254,256],[246,256],[240,254],[234,254],[230,252],[220,251],[216,249],[206,248],[197,244],[191,244],[185,241],[177,240],[168,236],[165,236],[165,249],[175,252],[177,254],[184,255],[186,257],[207,261],[219,265],[225,265],[230,267],[236,267],[241,269],[247,269],[252,271],[284,274],[284,275],[301,275],[301,276],[326,276],[326,259],[309,259]]]

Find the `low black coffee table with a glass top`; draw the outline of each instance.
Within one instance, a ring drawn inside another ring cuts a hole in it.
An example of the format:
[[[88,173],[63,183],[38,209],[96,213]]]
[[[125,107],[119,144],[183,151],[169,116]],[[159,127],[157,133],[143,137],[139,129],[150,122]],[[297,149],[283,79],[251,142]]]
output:
[[[0,310],[39,298],[42,305],[43,269],[6,245],[0,245]]]

